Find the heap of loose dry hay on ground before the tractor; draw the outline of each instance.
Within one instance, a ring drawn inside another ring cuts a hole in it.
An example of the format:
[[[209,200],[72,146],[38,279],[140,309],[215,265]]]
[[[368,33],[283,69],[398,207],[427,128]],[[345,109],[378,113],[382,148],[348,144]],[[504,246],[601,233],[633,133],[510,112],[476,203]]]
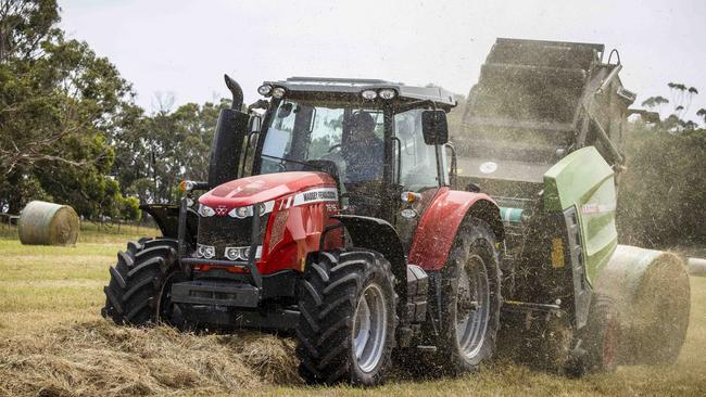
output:
[[[242,332],[194,335],[105,320],[0,341],[0,394],[118,396],[298,384],[294,342]]]

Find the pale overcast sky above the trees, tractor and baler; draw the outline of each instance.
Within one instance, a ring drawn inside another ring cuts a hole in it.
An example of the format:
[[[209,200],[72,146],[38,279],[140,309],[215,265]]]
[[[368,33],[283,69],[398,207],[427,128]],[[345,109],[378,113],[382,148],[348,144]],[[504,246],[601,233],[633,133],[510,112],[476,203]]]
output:
[[[616,48],[623,86],[670,98],[695,87],[706,107],[706,1],[181,1],[60,0],[62,27],[108,56],[148,112],[229,97],[247,102],[264,80],[291,76],[433,82],[467,94],[496,37]],[[607,56],[606,56],[607,57]],[[663,110],[665,114],[669,108]],[[703,123],[702,123],[703,125]]]

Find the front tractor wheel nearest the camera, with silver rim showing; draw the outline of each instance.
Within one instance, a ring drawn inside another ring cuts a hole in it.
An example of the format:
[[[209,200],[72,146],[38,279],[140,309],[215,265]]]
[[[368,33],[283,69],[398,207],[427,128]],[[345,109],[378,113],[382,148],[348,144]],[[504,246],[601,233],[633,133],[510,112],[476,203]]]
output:
[[[396,329],[394,276],[380,254],[312,255],[299,285],[299,373],[310,384],[384,381]]]

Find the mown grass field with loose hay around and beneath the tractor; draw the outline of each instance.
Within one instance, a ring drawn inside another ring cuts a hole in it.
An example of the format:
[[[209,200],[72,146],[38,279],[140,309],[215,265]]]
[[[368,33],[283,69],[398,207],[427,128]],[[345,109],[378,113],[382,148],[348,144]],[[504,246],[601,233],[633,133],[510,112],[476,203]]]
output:
[[[371,389],[312,388],[295,375],[291,340],[103,320],[108,267],[136,235],[85,234],[73,247],[0,239],[0,395],[706,395],[706,278],[691,279],[691,323],[675,366],[571,380],[494,361],[457,379],[398,375]]]

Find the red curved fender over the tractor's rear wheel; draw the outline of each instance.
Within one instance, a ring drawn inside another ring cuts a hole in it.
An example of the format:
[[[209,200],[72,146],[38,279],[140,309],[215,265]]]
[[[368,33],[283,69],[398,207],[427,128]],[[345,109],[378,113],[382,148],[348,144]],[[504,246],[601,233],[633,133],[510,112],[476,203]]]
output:
[[[497,241],[505,239],[500,208],[488,194],[442,188],[419,220],[407,262],[427,271],[441,269],[467,217],[486,221]]]

